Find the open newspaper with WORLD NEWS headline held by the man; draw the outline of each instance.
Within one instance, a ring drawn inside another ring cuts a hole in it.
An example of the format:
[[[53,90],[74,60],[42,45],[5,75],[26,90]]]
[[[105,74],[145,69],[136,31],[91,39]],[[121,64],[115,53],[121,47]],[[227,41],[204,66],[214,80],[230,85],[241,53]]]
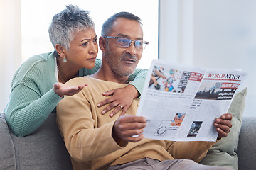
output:
[[[215,118],[228,112],[247,72],[204,69],[153,60],[137,115],[147,120],[144,137],[216,141]]]

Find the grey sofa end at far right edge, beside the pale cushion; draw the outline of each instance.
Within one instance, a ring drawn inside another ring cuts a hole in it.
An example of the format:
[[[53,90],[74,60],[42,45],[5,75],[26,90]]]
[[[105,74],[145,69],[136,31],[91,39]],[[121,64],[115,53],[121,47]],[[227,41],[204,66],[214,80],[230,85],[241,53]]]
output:
[[[238,169],[256,167],[256,116],[244,115],[238,142]]]

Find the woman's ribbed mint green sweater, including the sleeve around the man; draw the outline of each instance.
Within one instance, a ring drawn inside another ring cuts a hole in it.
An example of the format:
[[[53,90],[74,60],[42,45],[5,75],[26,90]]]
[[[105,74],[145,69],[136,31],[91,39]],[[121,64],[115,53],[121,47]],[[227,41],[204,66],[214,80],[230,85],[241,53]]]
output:
[[[80,69],[79,77],[97,72],[101,62],[97,59],[94,68]],[[139,93],[142,93],[145,77],[145,69],[136,69],[129,77]],[[31,134],[55,110],[62,99],[53,90],[55,82],[53,52],[35,55],[21,64],[14,74],[9,103],[4,109],[6,121],[15,135],[23,137]]]

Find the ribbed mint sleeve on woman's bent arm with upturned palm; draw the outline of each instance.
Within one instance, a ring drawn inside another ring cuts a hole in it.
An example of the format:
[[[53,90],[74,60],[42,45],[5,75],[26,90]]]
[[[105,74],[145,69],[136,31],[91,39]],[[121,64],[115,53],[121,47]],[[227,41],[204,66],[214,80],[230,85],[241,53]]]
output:
[[[60,101],[60,96],[50,89],[43,96],[24,84],[18,84],[10,94],[6,109],[6,121],[18,137],[24,137],[38,129]]]

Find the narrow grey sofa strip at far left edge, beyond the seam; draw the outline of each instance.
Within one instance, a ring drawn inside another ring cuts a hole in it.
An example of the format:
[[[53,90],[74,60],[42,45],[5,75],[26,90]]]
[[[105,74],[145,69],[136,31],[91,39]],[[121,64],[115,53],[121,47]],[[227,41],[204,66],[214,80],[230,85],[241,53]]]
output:
[[[0,113],[0,169],[16,169],[14,145],[9,134],[4,113]]]

